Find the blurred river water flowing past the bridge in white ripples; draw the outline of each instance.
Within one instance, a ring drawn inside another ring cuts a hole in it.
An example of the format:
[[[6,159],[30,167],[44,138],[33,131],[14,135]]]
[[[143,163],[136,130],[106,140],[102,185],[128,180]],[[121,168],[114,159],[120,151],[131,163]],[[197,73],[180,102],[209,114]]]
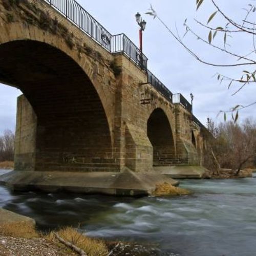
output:
[[[34,218],[40,229],[80,223],[89,236],[153,243],[162,254],[256,255],[256,176],[183,180],[181,187],[195,193],[133,199],[14,193],[0,186],[0,207]]]

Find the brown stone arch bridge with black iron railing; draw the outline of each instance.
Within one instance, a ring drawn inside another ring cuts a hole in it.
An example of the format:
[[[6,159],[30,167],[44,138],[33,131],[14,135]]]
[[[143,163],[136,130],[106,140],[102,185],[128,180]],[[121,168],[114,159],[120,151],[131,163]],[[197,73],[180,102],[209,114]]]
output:
[[[205,128],[189,102],[73,0],[0,0],[0,82],[23,92],[15,170],[132,177],[202,164]]]

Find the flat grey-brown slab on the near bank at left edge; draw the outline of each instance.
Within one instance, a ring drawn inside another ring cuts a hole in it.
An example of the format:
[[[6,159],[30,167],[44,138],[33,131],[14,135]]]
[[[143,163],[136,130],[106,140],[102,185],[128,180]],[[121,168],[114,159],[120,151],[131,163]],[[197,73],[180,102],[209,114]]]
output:
[[[15,214],[15,212],[0,208],[0,228],[6,224],[35,226],[35,221],[29,217]]]

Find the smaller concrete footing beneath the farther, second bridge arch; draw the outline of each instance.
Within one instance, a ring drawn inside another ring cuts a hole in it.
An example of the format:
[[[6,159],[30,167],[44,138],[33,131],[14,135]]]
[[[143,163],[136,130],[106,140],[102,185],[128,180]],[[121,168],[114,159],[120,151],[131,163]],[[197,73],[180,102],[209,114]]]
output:
[[[173,179],[202,179],[207,177],[209,170],[203,166],[155,166],[155,172]]]

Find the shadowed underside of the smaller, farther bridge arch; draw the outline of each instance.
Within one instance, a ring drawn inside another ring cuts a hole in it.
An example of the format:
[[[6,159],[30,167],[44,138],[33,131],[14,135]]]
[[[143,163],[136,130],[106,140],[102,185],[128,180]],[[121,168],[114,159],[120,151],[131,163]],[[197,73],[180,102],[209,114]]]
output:
[[[165,112],[157,108],[147,120],[147,137],[153,146],[153,165],[173,165],[176,151],[172,128]]]

